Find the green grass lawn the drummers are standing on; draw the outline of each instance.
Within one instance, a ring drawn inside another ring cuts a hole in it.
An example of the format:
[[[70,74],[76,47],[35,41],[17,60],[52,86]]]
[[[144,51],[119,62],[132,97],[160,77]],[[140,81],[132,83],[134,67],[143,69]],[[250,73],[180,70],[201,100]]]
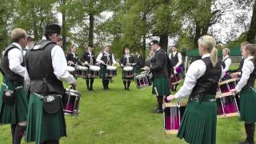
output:
[[[130,91],[123,90],[121,71],[110,83],[111,90],[102,90],[99,78],[94,82],[94,91],[85,86],[85,80],[79,78],[80,114],[76,118],[66,116],[68,137],[62,138],[61,143],[186,143],[176,135],[164,133],[162,114],[153,114],[156,98],[151,87],[137,90],[132,82]],[[244,140],[243,125],[238,117],[218,119],[217,143]],[[0,126],[0,144],[10,144],[10,138],[10,125]]]

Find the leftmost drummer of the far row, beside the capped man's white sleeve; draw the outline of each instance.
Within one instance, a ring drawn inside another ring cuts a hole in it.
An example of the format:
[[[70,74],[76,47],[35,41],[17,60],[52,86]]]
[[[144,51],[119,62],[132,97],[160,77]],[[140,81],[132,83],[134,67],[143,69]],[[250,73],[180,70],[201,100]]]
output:
[[[79,65],[79,58],[77,52],[77,46],[74,44],[70,46],[70,53],[66,54],[66,62],[69,66]]]

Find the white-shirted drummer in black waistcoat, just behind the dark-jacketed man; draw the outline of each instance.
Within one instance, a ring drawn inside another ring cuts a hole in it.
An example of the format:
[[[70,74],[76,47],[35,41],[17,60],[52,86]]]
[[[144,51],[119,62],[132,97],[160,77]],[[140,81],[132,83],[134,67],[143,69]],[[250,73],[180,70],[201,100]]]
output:
[[[172,63],[172,65],[174,66],[174,77],[180,79],[181,78],[181,75],[179,74],[180,71],[182,69],[182,54],[178,52],[178,49],[177,49],[177,45],[174,45],[172,46],[172,51],[170,52],[169,54],[169,58],[170,58],[170,61]],[[171,85],[171,83],[170,83]],[[172,86],[173,90],[176,91],[177,87],[178,87],[178,83],[175,84],[174,86]]]

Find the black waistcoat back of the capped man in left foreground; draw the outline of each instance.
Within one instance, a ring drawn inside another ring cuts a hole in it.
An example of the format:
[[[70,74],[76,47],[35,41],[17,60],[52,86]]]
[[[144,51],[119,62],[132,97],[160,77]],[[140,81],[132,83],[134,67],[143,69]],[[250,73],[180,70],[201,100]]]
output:
[[[51,50],[57,44],[41,40],[27,51],[25,64],[30,75],[30,92],[38,94],[64,94],[62,81],[54,74]],[[39,47],[39,48],[38,48]]]

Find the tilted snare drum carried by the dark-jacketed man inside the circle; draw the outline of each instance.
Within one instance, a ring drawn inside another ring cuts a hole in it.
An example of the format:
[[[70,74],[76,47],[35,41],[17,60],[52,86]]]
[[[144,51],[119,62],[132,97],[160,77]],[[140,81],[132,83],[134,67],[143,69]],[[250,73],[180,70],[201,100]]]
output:
[[[137,88],[142,89],[144,87],[152,85],[152,78],[153,78],[152,74],[142,72],[141,74],[137,75],[134,79],[135,79]]]

